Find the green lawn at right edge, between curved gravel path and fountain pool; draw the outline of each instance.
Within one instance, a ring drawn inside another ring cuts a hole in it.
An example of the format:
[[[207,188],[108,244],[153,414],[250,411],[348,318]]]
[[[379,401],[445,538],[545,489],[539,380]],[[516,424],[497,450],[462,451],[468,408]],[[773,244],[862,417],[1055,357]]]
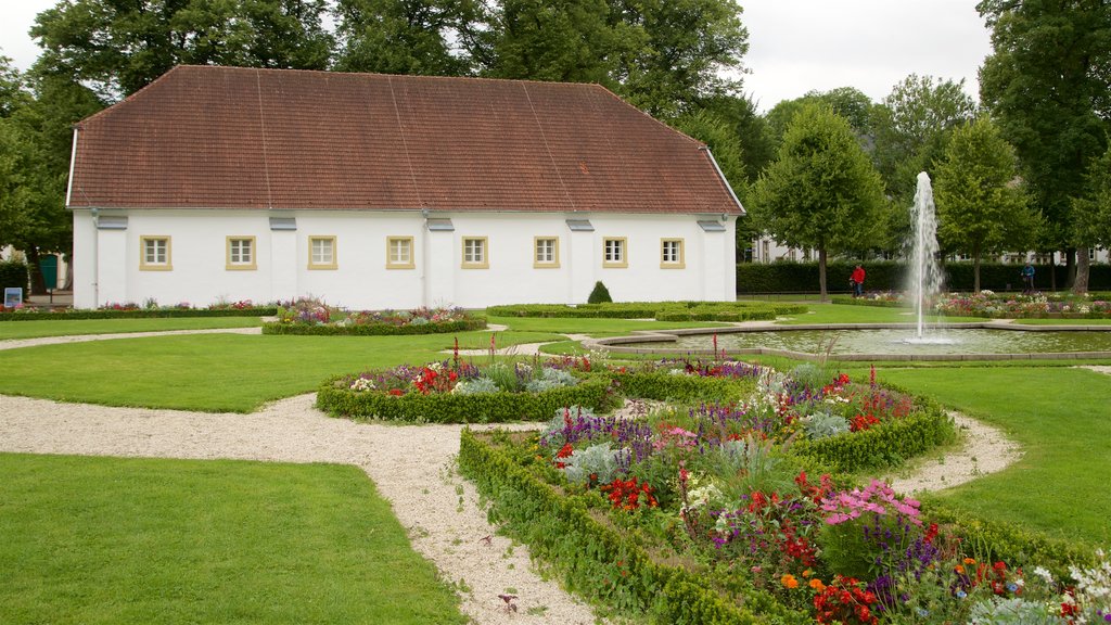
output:
[[[1072,367],[884,367],[878,375],[1022,445],[1017,464],[933,498],[982,518],[1111,546],[1111,375]]]

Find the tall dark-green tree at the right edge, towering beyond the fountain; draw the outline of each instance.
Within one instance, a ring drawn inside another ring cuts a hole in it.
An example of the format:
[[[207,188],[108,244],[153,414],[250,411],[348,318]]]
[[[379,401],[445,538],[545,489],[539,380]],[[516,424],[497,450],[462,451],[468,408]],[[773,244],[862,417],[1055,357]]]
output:
[[[1111,2],[982,0],[977,10],[994,50],[980,69],[981,100],[1047,219],[1040,247],[1068,249],[1072,269],[1073,200],[1111,125]]]

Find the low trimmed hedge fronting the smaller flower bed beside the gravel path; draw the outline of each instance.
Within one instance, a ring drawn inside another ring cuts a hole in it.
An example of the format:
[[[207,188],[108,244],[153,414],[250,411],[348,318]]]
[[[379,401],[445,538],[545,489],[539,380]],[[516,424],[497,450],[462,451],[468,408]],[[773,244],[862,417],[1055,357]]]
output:
[[[317,407],[332,416],[421,423],[547,421],[567,406],[594,410],[615,407],[610,380],[593,377],[575,386],[540,393],[486,393],[480,395],[409,393],[394,397],[380,391],[354,391],[340,380],[326,381],[317,393]],[[339,384],[339,386],[337,386]]]

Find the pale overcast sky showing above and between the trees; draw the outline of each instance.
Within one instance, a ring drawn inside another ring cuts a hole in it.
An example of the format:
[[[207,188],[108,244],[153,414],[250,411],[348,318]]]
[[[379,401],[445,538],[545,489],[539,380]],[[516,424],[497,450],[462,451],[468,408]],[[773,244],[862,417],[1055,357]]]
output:
[[[873,101],[910,73],[959,81],[979,100],[991,51],[977,0],[739,0],[749,29],[744,91],[761,110],[811,89],[855,87]],[[0,0],[0,52],[27,69],[27,34],[54,0]]]

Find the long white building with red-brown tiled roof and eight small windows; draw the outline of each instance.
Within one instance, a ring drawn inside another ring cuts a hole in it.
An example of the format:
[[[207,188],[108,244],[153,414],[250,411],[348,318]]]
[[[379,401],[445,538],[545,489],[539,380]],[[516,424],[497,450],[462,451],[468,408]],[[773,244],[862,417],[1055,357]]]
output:
[[[74,305],[735,297],[702,143],[593,85],[178,67],[74,130]]]

